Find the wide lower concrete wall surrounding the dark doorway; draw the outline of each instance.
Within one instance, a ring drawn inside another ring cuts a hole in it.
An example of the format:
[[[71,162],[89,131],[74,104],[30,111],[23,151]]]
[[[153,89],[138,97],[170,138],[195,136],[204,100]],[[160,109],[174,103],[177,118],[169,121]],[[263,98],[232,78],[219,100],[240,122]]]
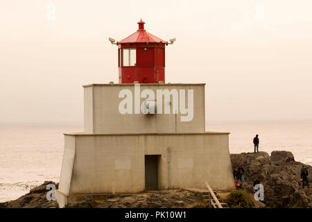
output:
[[[74,147],[73,147],[74,144]],[[64,194],[139,192],[145,189],[144,155],[159,158],[159,189],[233,189],[227,133],[65,135],[60,178]]]

